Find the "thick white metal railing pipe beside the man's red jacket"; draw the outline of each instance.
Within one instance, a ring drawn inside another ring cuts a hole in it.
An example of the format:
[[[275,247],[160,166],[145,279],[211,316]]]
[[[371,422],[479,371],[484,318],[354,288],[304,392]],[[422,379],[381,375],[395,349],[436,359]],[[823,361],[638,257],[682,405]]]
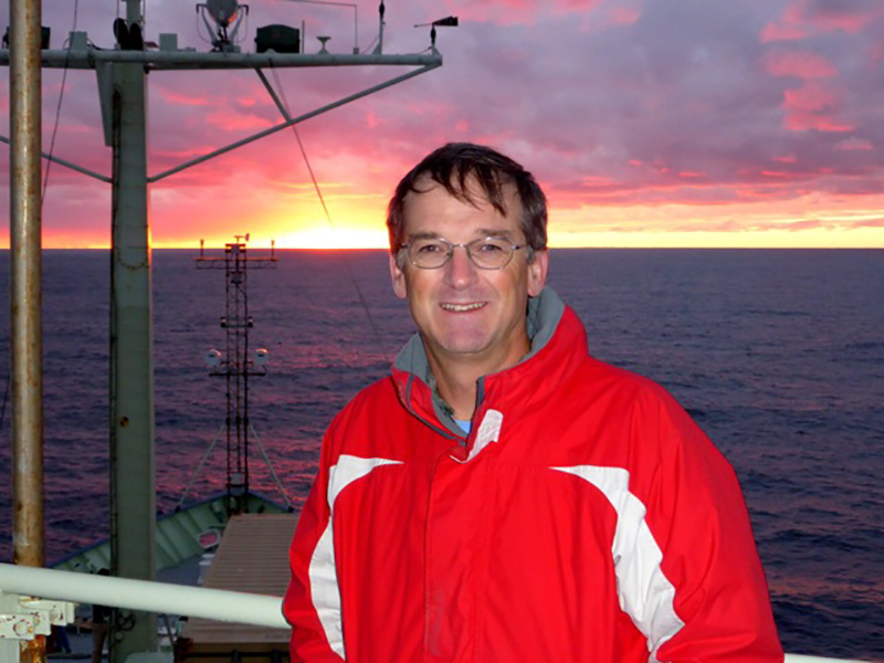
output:
[[[220,589],[0,564],[0,591],[76,603],[98,603],[126,610],[288,628],[283,619],[282,599]],[[786,654],[785,663],[860,662]]]

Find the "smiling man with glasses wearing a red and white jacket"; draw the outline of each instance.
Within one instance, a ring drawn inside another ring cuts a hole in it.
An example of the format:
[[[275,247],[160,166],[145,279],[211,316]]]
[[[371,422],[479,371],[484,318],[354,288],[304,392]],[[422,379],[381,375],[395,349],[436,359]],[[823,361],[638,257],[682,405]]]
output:
[[[390,202],[419,335],[324,441],[293,661],[782,661],[730,466],[545,288],[530,173],[446,145]]]

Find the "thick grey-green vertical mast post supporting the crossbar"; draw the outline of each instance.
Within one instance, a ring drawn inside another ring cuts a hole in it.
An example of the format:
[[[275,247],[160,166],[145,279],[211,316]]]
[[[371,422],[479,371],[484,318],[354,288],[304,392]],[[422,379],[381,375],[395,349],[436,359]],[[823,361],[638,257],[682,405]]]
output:
[[[126,0],[127,23],[140,23],[140,0]],[[110,273],[110,537],[115,576],[152,580],[154,330],[147,192],[147,81],[144,65],[115,64],[114,192]],[[156,617],[112,618],[112,661],[156,651]]]

